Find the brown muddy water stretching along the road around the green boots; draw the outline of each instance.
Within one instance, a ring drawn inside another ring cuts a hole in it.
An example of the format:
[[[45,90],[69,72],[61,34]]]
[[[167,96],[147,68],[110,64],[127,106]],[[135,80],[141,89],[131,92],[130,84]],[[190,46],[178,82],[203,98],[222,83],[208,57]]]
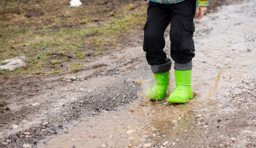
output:
[[[157,102],[137,101],[120,112],[106,112],[74,122],[65,127],[66,132],[62,135],[50,136],[46,142],[38,143],[37,147],[152,147],[154,139],[158,137],[157,131],[177,128],[177,120],[183,117],[184,112],[191,108],[207,110],[207,106],[225,102],[223,95],[230,91],[236,93],[238,90],[233,87],[238,82],[256,75],[255,5],[255,0],[248,0],[243,4],[221,7],[218,13],[195,20],[193,100],[176,105],[167,103],[167,98]],[[169,45],[167,37],[166,51]],[[171,78],[171,84],[175,84],[173,70]],[[146,79],[133,81],[141,83],[146,90],[150,84],[150,80]],[[181,129],[180,132],[186,130]]]

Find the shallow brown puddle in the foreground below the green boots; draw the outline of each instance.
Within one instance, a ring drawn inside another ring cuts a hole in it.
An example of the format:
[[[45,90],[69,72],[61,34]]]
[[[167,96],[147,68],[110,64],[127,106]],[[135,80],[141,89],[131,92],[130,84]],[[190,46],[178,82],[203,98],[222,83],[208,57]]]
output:
[[[177,119],[193,107],[196,99],[186,104],[170,105],[165,101],[137,101],[124,110],[105,112],[63,127],[63,134],[50,137],[38,148],[151,147],[166,126],[177,127]]]

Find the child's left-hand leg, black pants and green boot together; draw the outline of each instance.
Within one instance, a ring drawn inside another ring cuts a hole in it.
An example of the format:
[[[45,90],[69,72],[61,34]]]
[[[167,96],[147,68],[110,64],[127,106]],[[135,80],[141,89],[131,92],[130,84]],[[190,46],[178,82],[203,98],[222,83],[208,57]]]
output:
[[[163,51],[165,46],[164,31],[171,20],[170,6],[148,2],[148,17],[144,27],[143,49],[146,59],[151,65],[155,77],[155,85],[146,91],[148,99],[161,100],[164,98],[168,86],[171,60],[166,58]]]

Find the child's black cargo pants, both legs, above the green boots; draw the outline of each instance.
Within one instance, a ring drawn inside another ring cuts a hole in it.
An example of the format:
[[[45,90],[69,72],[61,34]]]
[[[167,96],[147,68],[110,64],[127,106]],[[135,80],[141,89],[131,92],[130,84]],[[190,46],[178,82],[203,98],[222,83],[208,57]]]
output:
[[[153,65],[163,65],[170,61],[166,60],[166,53],[163,51],[164,31],[170,22],[171,58],[175,61],[178,70],[192,68],[191,61],[195,56],[193,42],[195,2],[195,0],[185,0],[171,5],[148,2],[147,21],[143,28],[143,50],[146,52],[146,59],[151,69]]]

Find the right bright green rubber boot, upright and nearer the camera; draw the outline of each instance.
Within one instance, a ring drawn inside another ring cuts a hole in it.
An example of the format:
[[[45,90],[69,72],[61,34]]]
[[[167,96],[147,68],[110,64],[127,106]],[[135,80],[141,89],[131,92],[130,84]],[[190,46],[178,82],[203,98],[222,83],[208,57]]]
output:
[[[169,95],[168,102],[186,103],[189,99],[193,99],[191,73],[192,70],[175,70],[176,88]]]

